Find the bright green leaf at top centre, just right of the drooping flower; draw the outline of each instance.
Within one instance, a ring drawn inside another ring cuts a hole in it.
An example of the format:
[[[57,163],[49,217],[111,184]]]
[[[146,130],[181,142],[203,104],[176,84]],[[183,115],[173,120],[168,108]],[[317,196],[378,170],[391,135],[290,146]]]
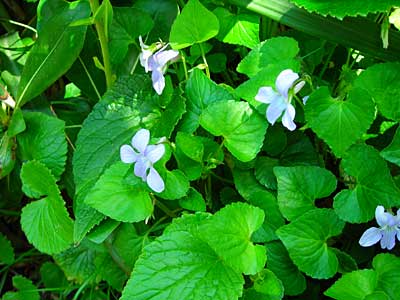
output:
[[[189,0],[172,24],[169,41],[172,48],[182,49],[211,39],[218,30],[217,17],[199,0]]]

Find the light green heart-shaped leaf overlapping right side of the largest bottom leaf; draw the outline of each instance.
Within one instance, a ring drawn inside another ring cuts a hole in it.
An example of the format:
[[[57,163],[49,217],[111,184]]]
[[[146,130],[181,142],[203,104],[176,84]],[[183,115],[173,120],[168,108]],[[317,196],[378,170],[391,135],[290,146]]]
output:
[[[200,227],[202,238],[237,272],[256,274],[264,268],[265,248],[253,245],[251,235],[264,221],[264,212],[245,203],[233,203]]]

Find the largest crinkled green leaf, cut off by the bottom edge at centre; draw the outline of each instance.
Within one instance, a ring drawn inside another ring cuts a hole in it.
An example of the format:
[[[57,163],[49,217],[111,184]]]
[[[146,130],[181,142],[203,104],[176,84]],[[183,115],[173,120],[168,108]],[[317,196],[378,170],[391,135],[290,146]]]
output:
[[[200,238],[199,225],[209,218],[198,213],[175,219],[144,248],[121,299],[237,299],[242,275]]]

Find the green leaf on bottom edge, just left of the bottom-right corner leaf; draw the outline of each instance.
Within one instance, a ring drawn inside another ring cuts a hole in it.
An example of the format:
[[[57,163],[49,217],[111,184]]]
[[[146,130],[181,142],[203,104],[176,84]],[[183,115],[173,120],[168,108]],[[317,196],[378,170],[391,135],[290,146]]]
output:
[[[337,300],[363,300],[374,292],[377,274],[374,270],[358,270],[344,274],[324,292],[324,295]]]

